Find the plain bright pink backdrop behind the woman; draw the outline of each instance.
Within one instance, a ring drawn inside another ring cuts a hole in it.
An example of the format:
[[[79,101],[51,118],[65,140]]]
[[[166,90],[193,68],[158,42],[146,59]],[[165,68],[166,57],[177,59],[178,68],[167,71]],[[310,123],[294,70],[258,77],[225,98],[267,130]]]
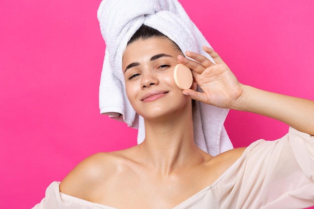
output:
[[[313,1],[180,2],[242,83],[314,100]],[[99,114],[99,3],[1,3],[1,208],[30,208],[83,158],[136,143],[136,130]],[[225,125],[235,147],[287,132],[237,111]]]

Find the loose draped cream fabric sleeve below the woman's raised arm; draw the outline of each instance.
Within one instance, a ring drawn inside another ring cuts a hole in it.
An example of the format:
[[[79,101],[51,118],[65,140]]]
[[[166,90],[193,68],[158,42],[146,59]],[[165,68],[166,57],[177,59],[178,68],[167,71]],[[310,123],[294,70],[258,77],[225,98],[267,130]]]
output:
[[[219,208],[295,209],[314,205],[314,137],[289,128],[246,148],[213,186]]]

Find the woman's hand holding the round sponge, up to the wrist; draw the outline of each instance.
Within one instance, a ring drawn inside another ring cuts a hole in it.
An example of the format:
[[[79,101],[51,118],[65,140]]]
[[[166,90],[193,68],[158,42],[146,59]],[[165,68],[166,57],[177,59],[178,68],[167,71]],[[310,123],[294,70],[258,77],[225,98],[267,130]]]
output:
[[[216,64],[194,52],[186,52],[186,55],[197,62],[178,56],[179,63],[192,70],[195,82],[192,89],[183,90],[183,93],[206,104],[229,109],[235,108],[234,106],[238,105],[237,103],[243,95],[243,85],[213,49],[204,46],[203,50],[214,59]],[[195,91],[196,84],[203,92]]]

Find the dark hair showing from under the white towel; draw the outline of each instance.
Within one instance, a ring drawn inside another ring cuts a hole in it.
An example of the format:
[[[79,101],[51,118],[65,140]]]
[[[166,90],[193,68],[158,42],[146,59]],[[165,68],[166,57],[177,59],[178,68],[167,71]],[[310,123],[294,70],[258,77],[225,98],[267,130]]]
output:
[[[167,36],[165,36],[163,33],[159,32],[158,30],[155,30],[155,29],[150,28],[148,26],[142,25],[135,32],[135,34],[131,37],[131,39],[127,42],[127,45],[129,45],[129,44],[131,44],[131,43],[133,43],[139,39],[146,40],[146,39],[150,39],[150,38],[167,38],[167,39],[169,39]],[[176,49],[178,49],[180,52],[182,52],[180,47],[174,41],[172,41],[171,39],[169,39],[169,40],[173,43],[173,45]],[[196,106],[196,101],[194,99],[192,99],[192,113],[194,113],[196,110],[195,106]]]

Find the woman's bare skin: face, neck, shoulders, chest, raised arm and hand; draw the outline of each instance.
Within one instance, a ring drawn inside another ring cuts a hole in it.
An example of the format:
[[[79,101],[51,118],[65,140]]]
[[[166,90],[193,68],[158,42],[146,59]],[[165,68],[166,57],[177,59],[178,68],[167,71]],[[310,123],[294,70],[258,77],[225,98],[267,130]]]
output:
[[[166,38],[128,45],[122,61],[126,93],[144,118],[145,140],[125,150],[86,158],[64,178],[60,191],[120,209],[173,208],[214,183],[245,148],[215,157],[200,150],[193,138],[191,98],[282,119],[292,126],[296,123],[294,128],[314,134],[312,101],[281,95],[277,98],[276,94],[242,85],[217,53],[206,47],[204,50],[214,58],[215,65],[192,52],[186,55],[197,62],[185,58]],[[176,86],[173,70],[178,63],[192,69],[204,93],[195,91],[196,83],[184,91]],[[267,108],[259,102],[265,102]],[[305,113],[282,116],[284,110],[277,109],[287,103],[287,110]]]

